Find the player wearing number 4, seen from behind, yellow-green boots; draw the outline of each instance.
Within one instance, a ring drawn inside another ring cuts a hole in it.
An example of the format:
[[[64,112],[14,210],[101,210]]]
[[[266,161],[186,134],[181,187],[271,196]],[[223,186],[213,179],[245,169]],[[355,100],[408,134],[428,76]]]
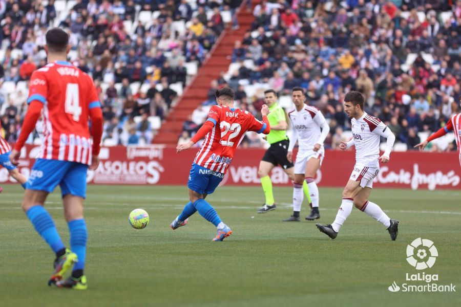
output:
[[[88,287],[83,275],[87,227],[83,219],[83,200],[88,167],[96,169],[99,164],[102,110],[91,77],[66,61],[70,51],[69,35],[54,28],[47,32],[46,40],[48,64],[32,74],[27,100],[29,109],[10,158],[17,164],[19,151],[41,114],[44,140],[27,181],[23,210],[56,254],[55,269],[48,284],[85,290]],[[72,251],[62,243],[44,208],[48,194],[57,185],[61,188]],[[71,277],[61,280],[72,266]]]

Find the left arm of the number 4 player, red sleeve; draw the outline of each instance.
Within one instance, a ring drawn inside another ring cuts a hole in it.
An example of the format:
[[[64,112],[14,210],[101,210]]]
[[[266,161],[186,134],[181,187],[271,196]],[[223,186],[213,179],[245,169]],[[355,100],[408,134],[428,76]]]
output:
[[[30,80],[29,98],[27,99],[29,108],[27,109],[23,126],[21,127],[21,133],[10,154],[10,160],[13,165],[18,165],[21,148],[23,148],[30,133],[34,130],[43,105],[47,103],[48,80],[45,72],[35,71]]]

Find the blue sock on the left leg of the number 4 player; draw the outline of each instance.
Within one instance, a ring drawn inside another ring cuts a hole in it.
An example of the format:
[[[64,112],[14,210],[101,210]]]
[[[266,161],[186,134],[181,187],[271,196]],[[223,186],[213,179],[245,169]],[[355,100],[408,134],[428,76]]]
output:
[[[43,206],[36,205],[30,207],[26,212],[27,217],[34,225],[35,230],[48,243],[53,252],[58,252],[66,248],[57,233],[53,218]]]

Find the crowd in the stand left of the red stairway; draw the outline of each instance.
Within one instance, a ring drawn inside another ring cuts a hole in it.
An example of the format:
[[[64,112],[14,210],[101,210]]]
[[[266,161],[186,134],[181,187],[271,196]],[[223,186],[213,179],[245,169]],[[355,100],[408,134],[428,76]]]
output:
[[[70,35],[70,61],[94,79],[104,144],[150,143],[222,32],[221,13],[231,16],[238,3],[0,0],[2,135],[16,140],[27,111],[28,81],[46,65],[46,31],[60,27]],[[37,128],[28,142],[39,143],[39,136]]]

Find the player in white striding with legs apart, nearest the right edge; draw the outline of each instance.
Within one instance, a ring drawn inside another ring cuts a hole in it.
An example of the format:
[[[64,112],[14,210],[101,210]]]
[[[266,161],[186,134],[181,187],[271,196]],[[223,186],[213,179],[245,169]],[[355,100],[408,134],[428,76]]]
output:
[[[346,150],[355,145],[355,166],[343,191],[343,201],[336,219],[331,225],[316,224],[317,228],[330,238],[338,235],[343,223],[352,211],[352,206],[373,217],[386,227],[392,240],[398,233],[399,221],[391,220],[386,213],[368,201],[373,187],[373,179],[380,172],[379,161],[389,162],[390,152],[395,136],[378,118],[365,113],[364,98],[359,92],[351,91],[344,98],[344,109],[351,118],[353,138],[349,142],[341,142],[340,148]],[[380,157],[380,137],[386,138],[386,151]]]

